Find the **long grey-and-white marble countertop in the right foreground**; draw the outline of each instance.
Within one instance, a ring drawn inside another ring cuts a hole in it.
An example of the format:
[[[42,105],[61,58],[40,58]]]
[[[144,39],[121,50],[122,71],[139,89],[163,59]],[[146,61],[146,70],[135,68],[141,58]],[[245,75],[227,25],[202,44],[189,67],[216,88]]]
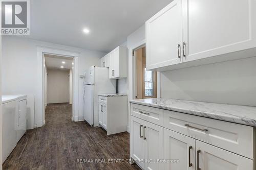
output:
[[[139,99],[130,103],[256,127],[256,107],[176,99]]]

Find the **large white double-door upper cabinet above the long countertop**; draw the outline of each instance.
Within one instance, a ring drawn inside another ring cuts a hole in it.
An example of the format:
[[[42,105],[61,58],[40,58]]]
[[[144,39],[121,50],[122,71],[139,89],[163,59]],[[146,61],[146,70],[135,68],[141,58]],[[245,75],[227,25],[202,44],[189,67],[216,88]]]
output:
[[[146,21],[147,69],[172,70],[255,53],[256,1],[174,0]]]

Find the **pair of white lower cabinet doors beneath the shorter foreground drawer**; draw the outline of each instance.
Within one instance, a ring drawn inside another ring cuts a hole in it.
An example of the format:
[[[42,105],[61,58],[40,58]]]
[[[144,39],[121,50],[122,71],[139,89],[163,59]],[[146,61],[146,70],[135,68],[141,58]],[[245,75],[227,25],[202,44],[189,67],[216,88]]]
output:
[[[143,169],[164,169],[164,129],[131,116],[131,157]]]

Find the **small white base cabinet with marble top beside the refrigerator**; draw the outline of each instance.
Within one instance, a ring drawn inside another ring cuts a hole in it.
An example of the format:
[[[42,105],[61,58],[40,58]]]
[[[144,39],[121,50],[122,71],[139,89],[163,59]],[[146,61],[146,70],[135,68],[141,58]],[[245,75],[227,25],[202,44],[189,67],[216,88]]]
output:
[[[99,126],[107,135],[127,131],[127,95],[99,94]]]

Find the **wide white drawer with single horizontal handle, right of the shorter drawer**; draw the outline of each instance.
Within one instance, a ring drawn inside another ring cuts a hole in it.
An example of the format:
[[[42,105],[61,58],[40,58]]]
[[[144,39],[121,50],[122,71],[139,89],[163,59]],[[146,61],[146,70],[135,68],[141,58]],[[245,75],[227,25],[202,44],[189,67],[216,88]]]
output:
[[[253,159],[253,127],[168,110],[164,127]]]

